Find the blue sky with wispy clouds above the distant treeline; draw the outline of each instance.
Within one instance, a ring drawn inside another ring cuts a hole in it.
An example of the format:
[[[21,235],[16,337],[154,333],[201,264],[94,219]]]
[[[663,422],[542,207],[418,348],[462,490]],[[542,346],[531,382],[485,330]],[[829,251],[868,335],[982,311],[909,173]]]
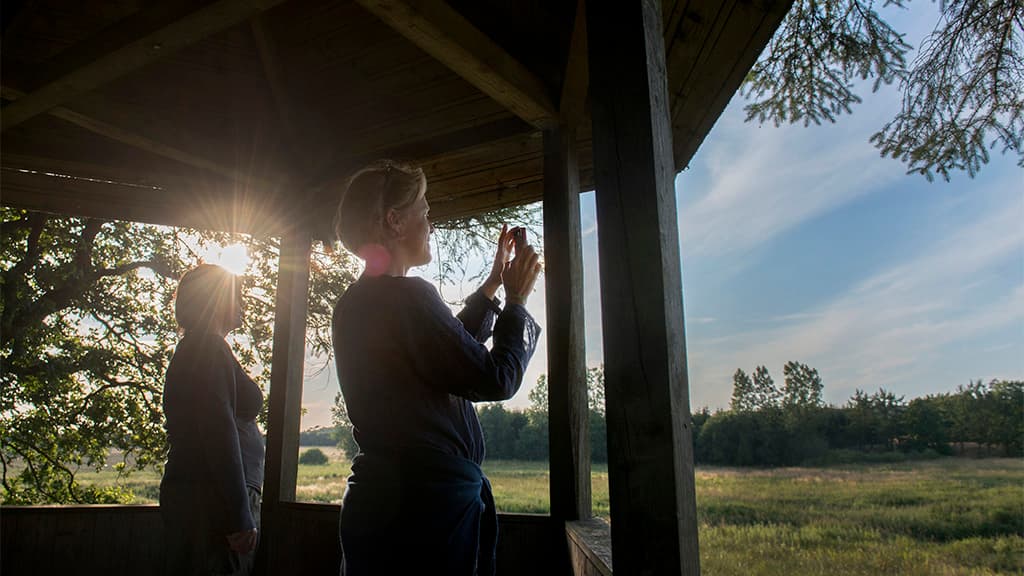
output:
[[[933,5],[915,4],[891,22],[918,45],[935,17]],[[909,400],[971,379],[1024,379],[1024,170],[993,151],[973,179],[907,175],[868,141],[895,115],[899,92],[859,93],[852,115],[811,127],[744,122],[736,95],[676,177],[694,410],[728,408],[737,368],[764,365],[781,385],[791,360],[819,371],[834,405],[857,388]],[[602,349],[592,192],[581,217],[594,366]],[[449,297],[471,291],[441,288]],[[544,301],[542,285],[527,305],[542,327]],[[544,346],[507,407],[528,406]],[[303,429],[330,425],[337,392],[333,366],[307,377]]]

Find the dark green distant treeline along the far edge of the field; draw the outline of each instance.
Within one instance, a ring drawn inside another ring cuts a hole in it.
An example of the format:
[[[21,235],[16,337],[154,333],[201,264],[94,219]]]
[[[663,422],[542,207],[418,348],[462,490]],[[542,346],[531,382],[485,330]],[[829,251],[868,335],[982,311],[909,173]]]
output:
[[[972,381],[954,393],[909,402],[885,389],[857,390],[845,406],[825,405],[817,370],[790,362],[777,387],[765,367],[733,376],[728,410],[692,414],[697,463],[777,466],[842,460],[899,459],[951,454],[972,447],[979,455],[1024,454],[1024,382]],[[588,371],[591,458],[607,460],[604,373]],[[530,390],[530,407],[502,404],[477,408],[493,459],[548,459],[548,386],[544,376]],[[340,406],[340,405],[339,405]],[[340,417],[339,417],[340,416]],[[303,446],[338,445],[349,455],[357,447],[343,406],[335,426],[301,434]]]

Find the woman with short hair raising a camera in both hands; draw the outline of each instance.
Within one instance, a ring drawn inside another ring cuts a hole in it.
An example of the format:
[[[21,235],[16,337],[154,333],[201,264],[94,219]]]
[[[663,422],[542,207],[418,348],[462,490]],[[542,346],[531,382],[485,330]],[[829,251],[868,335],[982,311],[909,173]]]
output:
[[[333,319],[359,446],[341,511],[348,576],[495,572],[498,523],[472,403],[519,389],[540,333],[523,304],[541,265],[526,245],[509,261],[503,229],[490,275],[453,316],[431,284],[407,276],[431,259],[426,189],[421,169],[381,161],[350,178],[338,208],[339,238],[367,262]]]

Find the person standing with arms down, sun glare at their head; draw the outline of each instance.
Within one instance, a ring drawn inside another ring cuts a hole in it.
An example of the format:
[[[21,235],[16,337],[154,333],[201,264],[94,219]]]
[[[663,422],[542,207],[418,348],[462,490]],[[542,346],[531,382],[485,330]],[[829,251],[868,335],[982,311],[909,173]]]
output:
[[[178,283],[183,331],[167,369],[164,414],[170,452],[160,484],[167,574],[252,571],[263,485],[263,393],[224,341],[242,326],[234,275],[202,264]]]

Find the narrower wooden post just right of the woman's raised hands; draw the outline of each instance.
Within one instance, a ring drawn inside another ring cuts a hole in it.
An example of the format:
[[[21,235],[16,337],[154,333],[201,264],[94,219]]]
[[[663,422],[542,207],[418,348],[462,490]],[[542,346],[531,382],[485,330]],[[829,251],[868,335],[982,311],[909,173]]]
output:
[[[551,516],[563,522],[591,515],[582,242],[575,133],[563,123],[544,132]]]

